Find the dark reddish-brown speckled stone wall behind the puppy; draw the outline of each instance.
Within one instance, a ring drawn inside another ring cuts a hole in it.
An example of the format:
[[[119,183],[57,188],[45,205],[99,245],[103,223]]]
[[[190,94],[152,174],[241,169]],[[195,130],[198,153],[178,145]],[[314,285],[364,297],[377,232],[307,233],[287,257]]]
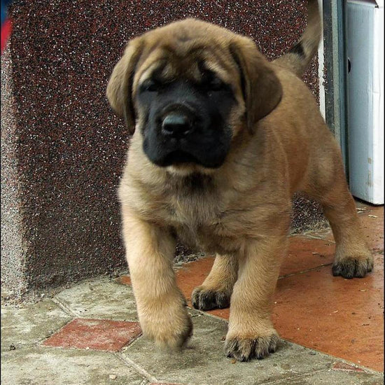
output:
[[[2,85],[13,85],[8,118],[1,115],[1,130],[13,137],[6,153],[13,170],[2,183],[22,231],[8,230],[15,239],[2,251],[6,262],[20,253],[14,272],[23,285],[58,286],[125,266],[116,187],[129,137],[105,90],[132,36],[201,18],[250,36],[274,59],[300,37],[305,13],[302,0],[15,1],[10,61],[1,62]],[[316,61],[304,78],[317,96]],[[297,227],[319,216],[312,205],[300,214],[306,205],[294,213]],[[6,264],[6,286],[12,269]]]

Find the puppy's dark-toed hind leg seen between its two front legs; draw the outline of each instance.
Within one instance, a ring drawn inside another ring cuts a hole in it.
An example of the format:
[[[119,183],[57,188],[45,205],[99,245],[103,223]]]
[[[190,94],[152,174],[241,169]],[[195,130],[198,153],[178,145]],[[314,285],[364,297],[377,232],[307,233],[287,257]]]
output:
[[[238,261],[233,255],[216,255],[210,274],[193,290],[193,307],[200,310],[230,306],[230,297],[237,281]]]

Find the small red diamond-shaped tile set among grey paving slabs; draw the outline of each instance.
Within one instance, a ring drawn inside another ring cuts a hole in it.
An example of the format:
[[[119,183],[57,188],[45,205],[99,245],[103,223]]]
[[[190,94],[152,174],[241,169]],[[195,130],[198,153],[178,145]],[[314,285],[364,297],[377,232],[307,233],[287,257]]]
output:
[[[45,346],[118,351],[141,335],[137,322],[76,318],[43,342]]]

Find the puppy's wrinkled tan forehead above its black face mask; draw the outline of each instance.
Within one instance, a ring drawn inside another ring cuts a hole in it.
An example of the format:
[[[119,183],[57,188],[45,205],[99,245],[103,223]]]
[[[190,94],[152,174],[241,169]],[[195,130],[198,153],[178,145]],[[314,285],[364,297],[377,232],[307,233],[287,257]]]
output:
[[[234,81],[235,63],[225,38],[202,36],[183,29],[155,30],[144,36],[146,47],[137,72],[134,87],[148,78],[172,81],[186,78],[199,82],[204,71],[216,73],[226,83]]]

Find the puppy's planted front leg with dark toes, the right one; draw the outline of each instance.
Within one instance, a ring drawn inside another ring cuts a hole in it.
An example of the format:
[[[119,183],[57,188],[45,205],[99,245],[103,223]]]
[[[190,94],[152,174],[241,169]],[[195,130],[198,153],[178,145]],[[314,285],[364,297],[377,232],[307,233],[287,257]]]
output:
[[[286,252],[286,237],[251,241],[239,255],[238,280],[230,302],[225,353],[240,361],[264,358],[276,350],[272,297]]]

